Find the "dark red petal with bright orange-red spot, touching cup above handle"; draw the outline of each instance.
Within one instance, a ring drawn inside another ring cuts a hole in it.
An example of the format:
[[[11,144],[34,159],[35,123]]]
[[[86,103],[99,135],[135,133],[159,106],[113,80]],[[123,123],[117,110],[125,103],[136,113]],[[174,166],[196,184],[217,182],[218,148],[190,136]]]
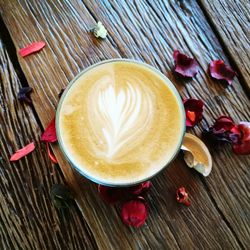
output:
[[[183,101],[186,111],[186,126],[193,127],[202,120],[203,106],[202,100],[189,98]]]

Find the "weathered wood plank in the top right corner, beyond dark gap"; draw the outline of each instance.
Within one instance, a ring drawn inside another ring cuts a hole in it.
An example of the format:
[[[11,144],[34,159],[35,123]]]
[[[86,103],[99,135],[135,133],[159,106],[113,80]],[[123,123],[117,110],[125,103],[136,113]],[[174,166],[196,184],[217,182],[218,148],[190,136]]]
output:
[[[250,2],[199,0],[250,95]]]

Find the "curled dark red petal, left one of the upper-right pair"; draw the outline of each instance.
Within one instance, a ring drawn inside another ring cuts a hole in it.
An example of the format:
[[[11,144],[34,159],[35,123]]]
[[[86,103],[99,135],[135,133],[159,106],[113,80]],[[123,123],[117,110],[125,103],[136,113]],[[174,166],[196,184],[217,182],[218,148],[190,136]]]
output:
[[[181,54],[178,50],[173,54],[175,69],[174,71],[185,77],[193,77],[197,74],[199,66],[194,58]]]

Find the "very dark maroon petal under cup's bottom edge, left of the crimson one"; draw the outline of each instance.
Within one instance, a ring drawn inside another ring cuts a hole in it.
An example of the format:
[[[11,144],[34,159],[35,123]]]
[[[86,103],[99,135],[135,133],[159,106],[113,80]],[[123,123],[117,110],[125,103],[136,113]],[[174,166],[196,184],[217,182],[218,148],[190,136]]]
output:
[[[98,185],[98,193],[101,198],[109,204],[114,204],[123,197],[122,188]]]

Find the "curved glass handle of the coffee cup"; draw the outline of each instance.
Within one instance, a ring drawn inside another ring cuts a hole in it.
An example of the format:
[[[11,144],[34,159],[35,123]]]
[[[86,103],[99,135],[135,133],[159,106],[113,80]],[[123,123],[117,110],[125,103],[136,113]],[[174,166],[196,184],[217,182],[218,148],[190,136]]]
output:
[[[181,149],[184,160],[190,168],[194,168],[203,176],[208,176],[212,170],[212,157],[206,145],[196,136],[186,133]]]

